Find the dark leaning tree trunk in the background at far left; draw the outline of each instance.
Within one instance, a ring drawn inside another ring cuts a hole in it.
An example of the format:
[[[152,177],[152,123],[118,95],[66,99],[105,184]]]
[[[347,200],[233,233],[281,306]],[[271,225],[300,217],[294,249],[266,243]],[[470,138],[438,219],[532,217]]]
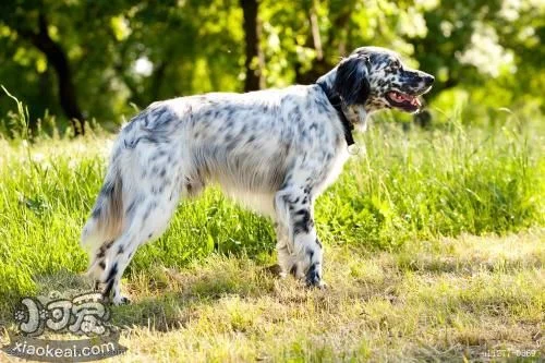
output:
[[[38,33],[22,33],[31,43],[38,48],[47,58],[47,61],[52,64],[58,80],[59,99],[64,111],[64,114],[70,119],[74,128],[75,135],[85,133],[85,124],[77,97],[72,72],[70,70],[66,53],[62,47],[49,36],[47,31],[47,20],[45,14],[39,14]]]

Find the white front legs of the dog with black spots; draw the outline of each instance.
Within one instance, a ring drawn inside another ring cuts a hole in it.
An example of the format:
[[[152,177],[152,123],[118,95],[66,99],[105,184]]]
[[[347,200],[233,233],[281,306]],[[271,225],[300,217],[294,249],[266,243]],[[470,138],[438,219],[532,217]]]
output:
[[[305,278],[310,286],[323,287],[322,243],[314,227],[308,187],[289,186],[276,194],[278,258],[282,274]]]

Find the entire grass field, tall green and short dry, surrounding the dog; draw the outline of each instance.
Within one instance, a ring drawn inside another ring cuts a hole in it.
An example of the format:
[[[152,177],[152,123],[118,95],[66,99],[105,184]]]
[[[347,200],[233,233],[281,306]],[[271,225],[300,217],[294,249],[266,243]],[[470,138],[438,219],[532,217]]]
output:
[[[366,153],[316,206],[329,289],[270,275],[269,221],[209,190],[182,203],[125,273],[134,303],[113,311],[124,359],[545,355],[540,132],[514,121],[407,133],[386,123],[363,141]],[[78,235],[110,144],[100,133],[0,140],[0,326],[22,295],[89,288],[77,277]]]

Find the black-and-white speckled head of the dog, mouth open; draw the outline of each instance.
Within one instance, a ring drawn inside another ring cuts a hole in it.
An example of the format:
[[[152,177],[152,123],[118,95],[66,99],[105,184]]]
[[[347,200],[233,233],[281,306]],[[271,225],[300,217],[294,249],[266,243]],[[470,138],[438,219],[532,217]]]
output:
[[[397,108],[412,113],[422,107],[419,96],[433,83],[432,75],[405,66],[396,52],[362,47],[339,63],[332,86],[349,108],[363,106],[367,112]]]

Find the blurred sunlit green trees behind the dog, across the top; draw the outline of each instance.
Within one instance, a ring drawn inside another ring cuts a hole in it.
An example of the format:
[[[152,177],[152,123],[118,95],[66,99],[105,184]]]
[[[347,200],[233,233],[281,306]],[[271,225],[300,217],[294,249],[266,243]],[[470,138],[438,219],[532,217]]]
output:
[[[437,76],[436,108],[543,112],[544,35],[538,0],[10,0],[0,83],[31,126],[48,110],[83,132],[83,120],[119,123],[156,99],[314,82],[378,45]],[[12,108],[1,95],[3,122]]]

